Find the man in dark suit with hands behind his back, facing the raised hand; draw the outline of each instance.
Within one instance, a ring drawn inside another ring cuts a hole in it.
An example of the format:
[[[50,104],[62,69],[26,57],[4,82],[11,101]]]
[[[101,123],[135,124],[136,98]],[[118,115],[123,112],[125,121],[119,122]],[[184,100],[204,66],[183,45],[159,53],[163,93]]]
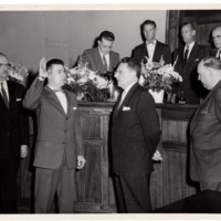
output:
[[[152,96],[137,82],[140,66],[125,57],[115,77],[124,90],[113,112],[112,159],[118,211],[143,213],[151,211],[150,175],[152,156],[160,138],[159,117]]]

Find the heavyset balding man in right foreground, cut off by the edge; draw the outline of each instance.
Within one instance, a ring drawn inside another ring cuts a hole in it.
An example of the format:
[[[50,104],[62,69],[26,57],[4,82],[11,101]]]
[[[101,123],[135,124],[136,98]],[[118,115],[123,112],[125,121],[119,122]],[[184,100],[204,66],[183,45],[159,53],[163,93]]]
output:
[[[202,191],[221,191],[221,61],[203,59],[198,73],[211,92],[190,124],[190,177],[200,182]]]

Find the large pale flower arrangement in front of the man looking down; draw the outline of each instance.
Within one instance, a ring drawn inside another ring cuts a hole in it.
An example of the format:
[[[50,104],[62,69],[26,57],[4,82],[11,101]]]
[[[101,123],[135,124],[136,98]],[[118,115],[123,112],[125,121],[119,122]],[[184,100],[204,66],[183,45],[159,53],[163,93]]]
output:
[[[76,67],[66,69],[66,88],[84,96],[84,99],[106,101],[109,85],[110,81],[90,70],[88,64],[82,61],[78,62]]]

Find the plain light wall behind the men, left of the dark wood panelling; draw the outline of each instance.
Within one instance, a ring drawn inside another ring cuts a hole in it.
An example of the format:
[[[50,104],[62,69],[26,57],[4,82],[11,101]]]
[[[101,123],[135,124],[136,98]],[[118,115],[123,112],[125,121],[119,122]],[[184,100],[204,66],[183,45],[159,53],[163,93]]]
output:
[[[130,56],[141,43],[140,24],[155,20],[157,39],[166,39],[166,10],[155,11],[0,11],[0,51],[11,62],[38,72],[42,56],[72,66],[104,30],[115,34],[113,50]]]

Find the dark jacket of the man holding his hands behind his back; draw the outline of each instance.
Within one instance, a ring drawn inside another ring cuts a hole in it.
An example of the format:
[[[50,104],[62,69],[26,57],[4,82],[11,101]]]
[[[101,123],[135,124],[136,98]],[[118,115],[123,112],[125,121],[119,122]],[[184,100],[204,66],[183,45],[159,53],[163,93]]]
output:
[[[159,117],[152,96],[135,84],[120,108],[113,113],[113,171],[118,176],[145,176],[152,171],[151,157],[160,138]],[[129,108],[124,110],[125,107]]]

